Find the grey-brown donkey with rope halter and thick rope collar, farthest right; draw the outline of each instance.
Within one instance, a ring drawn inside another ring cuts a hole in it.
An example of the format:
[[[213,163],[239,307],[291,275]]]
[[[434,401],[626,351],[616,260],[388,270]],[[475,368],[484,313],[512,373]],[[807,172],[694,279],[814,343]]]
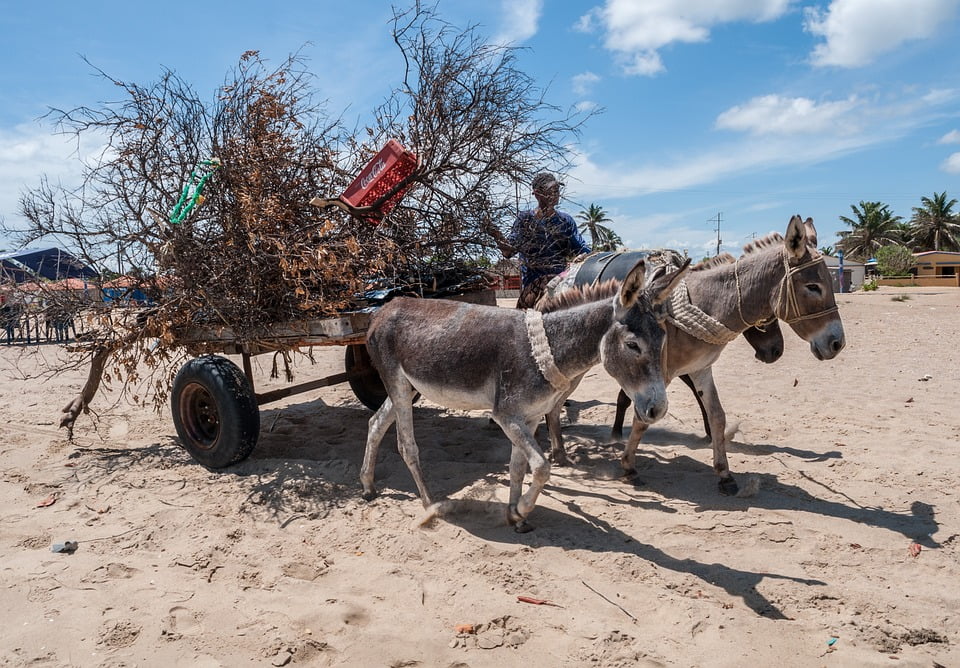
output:
[[[810,344],[818,360],[833,359],[846,343],[830,274],[817,251],[812,218],[803,221],[793,216],[785,236],[773,233],[748,244],[733,263],[690,271],[684,285],[690,302],[731,333],[777,317]],[[669,382],[681,374],[690,376],[706,406],[720,492],[736,494],[738,485],[727,463],[726,414],[713,381],[712,365],[722,350],[723,346],[706,344],[668,319],[664,377]],[[636,475],[637,446],[646,430],[646,423],[633,421],[621,457],[625,475]]]

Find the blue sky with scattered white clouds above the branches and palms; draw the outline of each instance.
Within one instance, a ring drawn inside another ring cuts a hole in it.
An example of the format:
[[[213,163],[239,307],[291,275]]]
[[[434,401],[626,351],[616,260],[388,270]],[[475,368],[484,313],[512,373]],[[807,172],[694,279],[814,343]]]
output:
[[[76,182],[47,110],[118,99],[83,57],[142,84],[169,68],[212,96],[244,51],[277,64],[301,51],[330,110],[361,120],[403,74],[379,0],[12,4],[0,13],[8,225],[41,174]],[[960,0],[441,0],[438,12],[523,47],[519,66],[549,102],[602,108],[571,146],[561,208],[599,204],[630,247],[713,254],[719,214],[737,254],[795,213],[832,245],[860,200],[909,219],[922,196],[960,198]]]

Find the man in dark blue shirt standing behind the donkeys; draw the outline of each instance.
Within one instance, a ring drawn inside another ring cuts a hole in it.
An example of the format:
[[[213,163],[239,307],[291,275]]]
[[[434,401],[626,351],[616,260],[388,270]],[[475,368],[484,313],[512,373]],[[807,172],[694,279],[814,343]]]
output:
[[[566,269],[570,260],[590,252],[573,217],[557,211],[563,184],[553,174],[541,172],[533,177],[531,187],[537,208],[521,212],[506,237],[490,228],[504,257],[520,256],[517,308],[533,308],[551,278]]]

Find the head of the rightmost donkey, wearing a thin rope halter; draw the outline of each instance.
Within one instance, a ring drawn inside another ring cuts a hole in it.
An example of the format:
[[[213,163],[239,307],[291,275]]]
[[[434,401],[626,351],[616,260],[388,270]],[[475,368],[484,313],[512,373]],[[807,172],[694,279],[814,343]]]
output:
[[[833,281],[817,251],[813,219],[793,216],[783,240],[785,275],[775,295],[774,312],[810,343],[819,360],[832,359],[846,341],[833,296]]]

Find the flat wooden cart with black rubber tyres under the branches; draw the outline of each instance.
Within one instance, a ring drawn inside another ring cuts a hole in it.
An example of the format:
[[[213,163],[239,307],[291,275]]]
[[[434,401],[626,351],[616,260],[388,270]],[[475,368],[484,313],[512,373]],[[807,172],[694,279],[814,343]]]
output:
[[[448,297],[496,306],[493,290]],[[177,373],[170,397],[173,423],[183,447],[209,468],[223,468],[246,459],[260,435],[260,406],[320,387],[349,383],[365,406],[376,410],[386,399],[380,376],[370,363],[366,333],[373,312],[346,313],[320,320],[272,327],[257,342],[239,341],[228,328],[198,328],[178,343],[204,354]],[[258,393],[250,358],[278,350],[309,346],[344,346],[344,371],[299,385]],[[216,353],[240,355],[243,368]]]

